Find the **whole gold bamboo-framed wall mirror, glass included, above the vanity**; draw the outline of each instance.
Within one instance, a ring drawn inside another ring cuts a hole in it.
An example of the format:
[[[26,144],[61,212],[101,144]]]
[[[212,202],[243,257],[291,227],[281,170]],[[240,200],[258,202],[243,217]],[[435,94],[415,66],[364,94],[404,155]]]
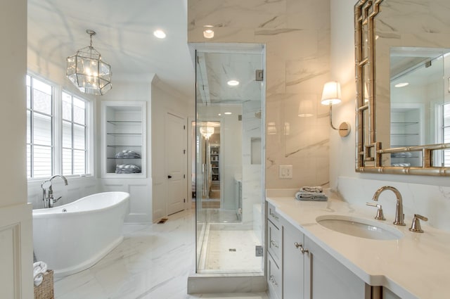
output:
[[[355,4],[356,172],[450,176],[446,1]]]

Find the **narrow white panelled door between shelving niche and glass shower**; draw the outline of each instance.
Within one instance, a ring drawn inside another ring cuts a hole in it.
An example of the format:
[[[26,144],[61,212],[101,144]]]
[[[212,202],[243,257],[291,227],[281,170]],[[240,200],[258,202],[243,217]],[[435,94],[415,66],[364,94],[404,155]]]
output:
[[[184,210],[186,203],[186,122],[167,113],[165,125],[167,215]]]

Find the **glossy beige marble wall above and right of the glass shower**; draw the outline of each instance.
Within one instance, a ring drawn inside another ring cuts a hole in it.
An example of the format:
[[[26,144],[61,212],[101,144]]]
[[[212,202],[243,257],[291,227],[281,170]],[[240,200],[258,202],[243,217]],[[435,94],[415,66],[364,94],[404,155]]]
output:
[[[266,45],[266,188],[328,185],[329,0],[188,0],[188,42]],[[301,102],[311,117],[298,117]],[[278,179],[279,165],[293,165],[293,179]]]

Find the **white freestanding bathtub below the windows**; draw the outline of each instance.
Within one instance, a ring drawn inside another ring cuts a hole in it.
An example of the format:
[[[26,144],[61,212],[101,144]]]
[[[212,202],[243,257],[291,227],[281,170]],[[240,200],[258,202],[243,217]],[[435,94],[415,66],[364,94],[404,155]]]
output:
[[[56,277],[94,265],[123,240],[129,193],[96,193],[55,208],[33,210],[33,245],[38,261]]]

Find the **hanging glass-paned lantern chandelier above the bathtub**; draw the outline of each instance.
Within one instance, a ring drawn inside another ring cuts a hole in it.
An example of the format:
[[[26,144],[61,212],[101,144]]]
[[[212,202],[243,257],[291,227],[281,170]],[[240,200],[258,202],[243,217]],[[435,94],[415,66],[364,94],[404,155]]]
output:
[[[73,84],[85,94],[103,95],[111,87],[111,66],[101,60],[101,55],[92,46],[94,30],[86,30],[91,44],[79,49],[68,57],[66,75]]]

